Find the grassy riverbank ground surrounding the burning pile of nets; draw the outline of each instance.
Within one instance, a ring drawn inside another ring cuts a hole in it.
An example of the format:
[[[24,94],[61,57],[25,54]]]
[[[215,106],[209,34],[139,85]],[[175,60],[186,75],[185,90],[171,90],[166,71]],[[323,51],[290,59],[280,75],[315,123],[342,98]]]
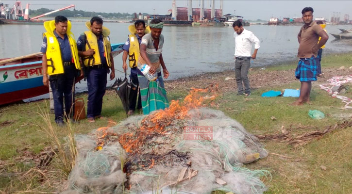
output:
[[[288,105],[295,100],[291,97],[261,97],[268,90],[299,88],[300,82],[294,79],[295,63],[265,69],[252,68],[249,73],[252,88],[250,97],[236,96],[233,71],[165,81],[165,85],[169,100],[183,99],[191,87],[218,85],[220,95],[208,107],[234,118],[252,134],[290,134],[297,137],[314,130],[323,131],[336,123],[342,123],[342,119],[350,121],[352,111],[344,109],[340,99],[332,98],[319,88],[319,84],[326,83],[333,76],[352,74],[350,66],[352,53],[323,57],[324,77],[313,82],[312,102],[303,106]],[[345,86],[352,88],[351,83]],[[352,97],[352,91],[347,90],[344,96]],[[83,97],[86,102],[86,94],[77,97]],[[52,142],[45,133],[45,121],[39,113],[43,109],[48,111],[48,106],[49,101],[45,99],[0,107],[1,192],[37,193],[62,189],[67,175],[55,165],[55,160],[51,163],[44,160],[48,158],[46,153],[50,153]],[[326,117],[313,120],[308,116],[309,110],[319,110]],[[113,90],[108,90],[104,96],[102,115],[105,117],[93,124],[82,120],[72,125],[74,133],[86,134],[108,126],[109,121],[117,123],[125,119],[121,102]],[[50,115],[50,120],[53,121],[53,115]],[[54,129],[60,140],[68,135],[66,128],[54,126]],[[268,157],[244,167],[266,169],[271,173],[271,179],[262,178],[268,187],[266,194],[352,193],[351,129],[336,128],[331,133],[299,146],[289,145],[284,140],[263,140],[262,143],[270,153]]]

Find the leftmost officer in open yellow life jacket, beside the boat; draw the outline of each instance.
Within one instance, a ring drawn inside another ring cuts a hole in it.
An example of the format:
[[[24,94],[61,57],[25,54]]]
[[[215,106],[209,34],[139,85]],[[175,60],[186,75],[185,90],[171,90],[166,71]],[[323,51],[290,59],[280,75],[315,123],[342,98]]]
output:
[[[54,100],[55,122],[64,125],[65,112],[69,119],[74,113],[74,78],[78,70],[83,71],[78,58],[76,41],[71,30],[71,22],[65,16],[56,16],[55,20],[44,22],[47,32],[43,33],[43,84],[49,85]],[[48,79],[49,75],[49,79]]]

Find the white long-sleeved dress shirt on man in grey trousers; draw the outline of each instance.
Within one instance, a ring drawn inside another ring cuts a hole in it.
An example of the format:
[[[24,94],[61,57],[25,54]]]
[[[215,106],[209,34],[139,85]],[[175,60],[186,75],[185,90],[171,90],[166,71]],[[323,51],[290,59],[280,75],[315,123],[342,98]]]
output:
[[[234,32],[235,37],[235,57],[251,57],[252,44],[254,49],[259,49],[260,40],[253,32],[243,29],[241,34]]]

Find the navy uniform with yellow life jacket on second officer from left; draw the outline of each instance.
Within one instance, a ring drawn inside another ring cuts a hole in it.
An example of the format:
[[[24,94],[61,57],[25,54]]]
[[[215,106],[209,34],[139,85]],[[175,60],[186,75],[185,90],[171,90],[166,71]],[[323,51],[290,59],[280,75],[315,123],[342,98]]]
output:
[[[103,27],[103,29],[105,28]],[[107,74],[109,73],[109,67],[112,65],[110,61],[111,44],[107,35],[109,34],[104,34],[104,30],[99,37],[91,31],[86,31],[77,40],[78,50],[94,49],[95,51],[93,56],[83,58],[88,88],[87,118],[101,116]]]

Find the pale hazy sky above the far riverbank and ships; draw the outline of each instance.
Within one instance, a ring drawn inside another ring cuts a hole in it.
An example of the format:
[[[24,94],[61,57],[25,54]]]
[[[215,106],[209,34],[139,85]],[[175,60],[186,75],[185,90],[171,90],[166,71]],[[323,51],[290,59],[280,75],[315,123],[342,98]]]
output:
[[[15,0],[0,0],[12,6]],[[94,12],[149,13],[167,14],[172,8],[172,0],[22,0],[23,9],[30,3],[30,9],[45,7],[59,9],[63,4],[74,4],[75,9]],[[199,8],[200,0],[192,0],[192,7]],[[40,4],[40,5],[38,5]],[[56,5],[55,5],[56,4]],[[57,5],[59,4],[59,5]],[[177,7],[187,7],[188,0],[176,0]],[[223,0],[223,13],[244,16],[244,19],[269,20],[271,16],[294,17],[302,16],[304,7],[313,7],[314,17],[330,17],[339,14],[343,19],[345,14],[352,20],[352,0]],[[204,8],[210,7],[210,0],[204,0]],[[220,1],[215,0],[215,9],[220,8]],[[73,8],[70,8],[72,10]]]

